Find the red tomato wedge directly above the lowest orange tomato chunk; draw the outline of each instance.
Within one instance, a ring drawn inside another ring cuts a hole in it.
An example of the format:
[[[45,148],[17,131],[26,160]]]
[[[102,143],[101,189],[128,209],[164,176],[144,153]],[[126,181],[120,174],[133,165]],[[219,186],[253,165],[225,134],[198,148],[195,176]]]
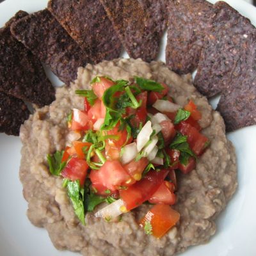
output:
[[[157,191],[149,198],[150,204],[173,205],[176,202],[176,195],[173,193],[174,185],[166,180],[159,186]]]

